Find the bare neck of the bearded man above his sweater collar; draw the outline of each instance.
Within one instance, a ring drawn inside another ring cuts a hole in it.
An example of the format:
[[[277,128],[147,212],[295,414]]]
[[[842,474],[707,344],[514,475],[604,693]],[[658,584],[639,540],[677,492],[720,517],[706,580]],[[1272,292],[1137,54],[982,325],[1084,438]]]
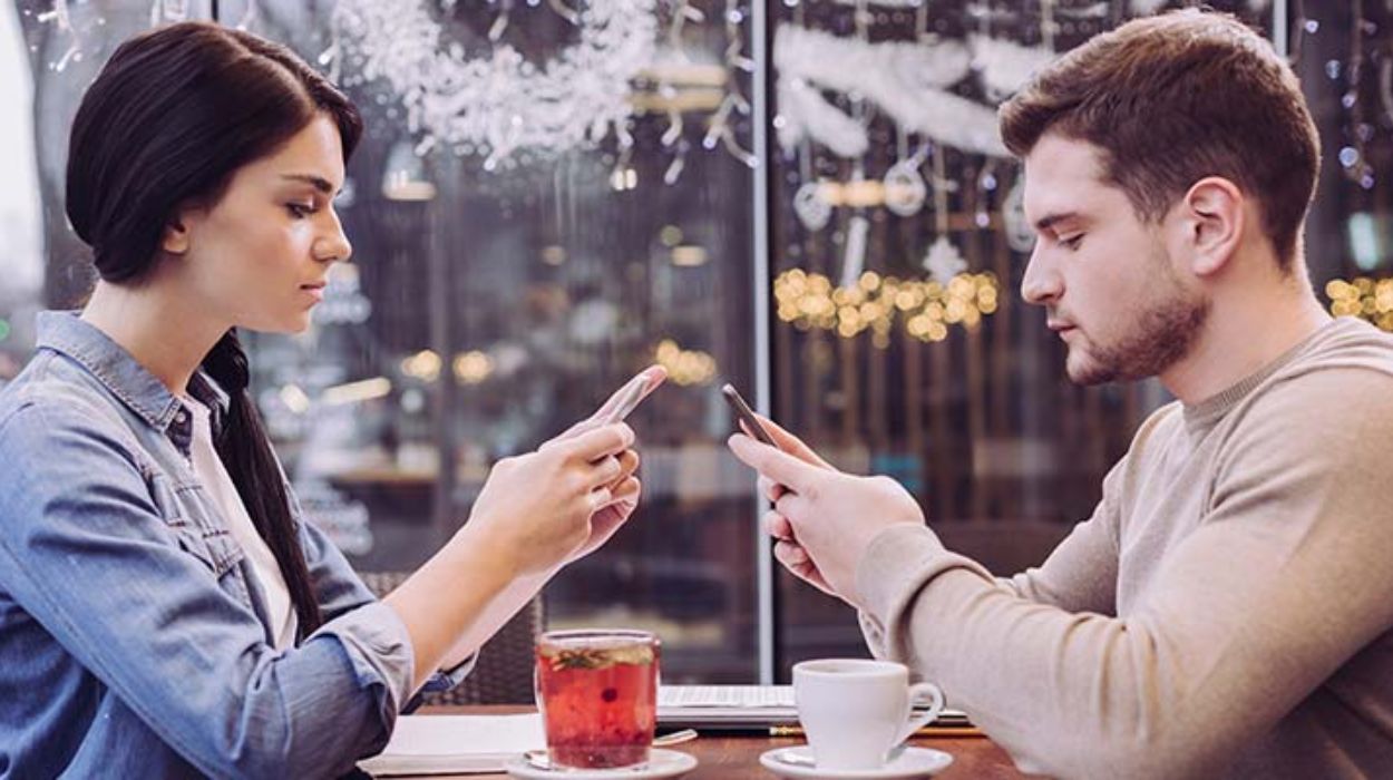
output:
[[[1216,295],[1204,333],[1181,361],[1160,375],[1187,405],[1233,387],[1330,322],[1304,269],[1261,294]],[[1263,284],[1261,281],[1254,284]]]

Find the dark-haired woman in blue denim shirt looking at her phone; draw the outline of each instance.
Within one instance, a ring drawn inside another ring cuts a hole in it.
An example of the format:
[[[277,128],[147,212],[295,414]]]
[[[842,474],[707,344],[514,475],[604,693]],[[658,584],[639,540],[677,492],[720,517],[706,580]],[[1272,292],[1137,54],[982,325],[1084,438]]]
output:
[[[67,212],[100,279],[0,394],[0,777],[350,772],[632,511],[632,432],[584,422],[500,461],[382,602],[304,522],[235,329],[308,326],[361,127],[209,24],[125,42],[88,89]]]

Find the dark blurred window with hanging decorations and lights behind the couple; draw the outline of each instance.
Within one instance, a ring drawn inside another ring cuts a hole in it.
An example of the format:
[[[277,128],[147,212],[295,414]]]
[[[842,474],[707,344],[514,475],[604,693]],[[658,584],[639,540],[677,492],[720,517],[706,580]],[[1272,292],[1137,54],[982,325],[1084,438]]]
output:
[[[1167,397],[1066,380],[1018,298],[1034,238],[995,107],[1056,53],[1184,4],[3,4],[0,384],[33,313],[91,287],[63,178],[114,46],[187,18],[283,42],[368,127],[337,203],[352,262],[308,333],[249,337],[311,518],[359,570],[411,570],[497,458],[663,364],[671,379],[631,418],[642,506],[546,589],[549,624],[655,630],[667,682],[786,681],[797,660],[865,648],[848,607],[772,564],[717,389],[843,468],[894,476],[997,574],[1043,560]],[[1209,6],[1302,78],[1323,141],[1316,288],[1393,329],[1393,1]]]

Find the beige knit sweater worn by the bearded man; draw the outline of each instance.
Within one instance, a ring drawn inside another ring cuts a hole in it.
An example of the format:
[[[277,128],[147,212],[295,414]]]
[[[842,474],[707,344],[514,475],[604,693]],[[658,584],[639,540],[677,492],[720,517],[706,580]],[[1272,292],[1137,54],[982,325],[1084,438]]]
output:
[[[1027,770],[1393,777],[1390,467],[1393,337],[1337,319],[1146,419],[1039,568],[882,532],[862,628]]]

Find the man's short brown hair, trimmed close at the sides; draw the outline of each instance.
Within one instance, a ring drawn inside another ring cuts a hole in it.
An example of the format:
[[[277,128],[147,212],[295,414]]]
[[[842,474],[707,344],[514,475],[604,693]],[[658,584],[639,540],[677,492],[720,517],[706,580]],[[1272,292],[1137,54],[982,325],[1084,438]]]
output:
[[[1135,20],[1064,54],[1000,110],[1024,157],[1048,131],[1103,150],[1103,180],[1159,220],[1219,176],[1255,196],[1277,262],[1291,269],[1319,170],[1301,85],[1272,45],[1227,14]]]

